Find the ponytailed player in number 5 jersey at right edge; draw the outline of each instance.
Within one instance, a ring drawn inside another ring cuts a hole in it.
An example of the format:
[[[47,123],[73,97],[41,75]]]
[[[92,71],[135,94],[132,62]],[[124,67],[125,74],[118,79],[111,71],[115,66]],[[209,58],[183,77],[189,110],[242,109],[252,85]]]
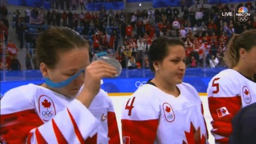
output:
[[[231,119],[242,107],[256,102],[256,30],[234,35],[228,44],[225,62],[229,69],[214,76],[207,88],[211,130],[215,142],[228,143]]]

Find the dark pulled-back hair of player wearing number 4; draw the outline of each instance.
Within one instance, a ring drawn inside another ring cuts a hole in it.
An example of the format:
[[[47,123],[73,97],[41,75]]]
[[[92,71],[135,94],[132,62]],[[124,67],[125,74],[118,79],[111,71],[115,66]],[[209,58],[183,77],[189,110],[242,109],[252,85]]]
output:
[[[155,71],[153,67],[154,61],[163,61],[163,59],[168,55],[168,47],[181,45],[183,47],[184,43],[179,39],[168,38],[168,37],[159,37],[149,47],[148,53],[148,61],[149,61],[149,68],[152,71]]]

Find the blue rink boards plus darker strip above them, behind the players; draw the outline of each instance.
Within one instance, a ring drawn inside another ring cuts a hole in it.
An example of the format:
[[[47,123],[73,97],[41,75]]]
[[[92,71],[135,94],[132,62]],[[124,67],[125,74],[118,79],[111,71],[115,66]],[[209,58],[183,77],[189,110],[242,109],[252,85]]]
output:
[[[206,92],[211,77],[218,74],[224,68],[187,68],[184,82],[195,86],[198,92]],[[14,87],[28,83],[44,83],[44,78],[39,70],[26,71],[0,71],[1,93]],[[5,75],[5,82],[3,76]],[[123,69],[121,75],[114,79],[103,79],[102,89],[109,93],[130,93],[137,90],[140,83],[145,83],[154,77],[149,69]]]

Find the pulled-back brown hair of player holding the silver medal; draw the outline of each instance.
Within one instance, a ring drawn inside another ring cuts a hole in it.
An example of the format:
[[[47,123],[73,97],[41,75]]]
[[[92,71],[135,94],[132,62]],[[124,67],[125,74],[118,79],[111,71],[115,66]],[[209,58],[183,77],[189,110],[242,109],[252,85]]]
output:
[[[53,69],[58,62],[58,52],[87,47],[89,43],[76,31],[67,27],[51,27],[36,40],[36,57],[38,65],[42,62]]]

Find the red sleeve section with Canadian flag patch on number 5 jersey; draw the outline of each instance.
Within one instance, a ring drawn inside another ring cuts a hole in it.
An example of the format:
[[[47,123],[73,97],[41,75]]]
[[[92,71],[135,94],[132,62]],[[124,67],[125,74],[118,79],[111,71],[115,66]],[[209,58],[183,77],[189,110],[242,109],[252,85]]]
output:
[[[242,107],[241,97],[209,97],[208,102],[213,118],[212,125],[214,131],[212,132],[222,137],[229,137],[232,132],[231,120]],[[223,115],[221,113],[218,115],[220,111],[218,109],[223,107],[228,110],[228,114]],[[221,142],[228,142],[228,138],[221,139]]]

